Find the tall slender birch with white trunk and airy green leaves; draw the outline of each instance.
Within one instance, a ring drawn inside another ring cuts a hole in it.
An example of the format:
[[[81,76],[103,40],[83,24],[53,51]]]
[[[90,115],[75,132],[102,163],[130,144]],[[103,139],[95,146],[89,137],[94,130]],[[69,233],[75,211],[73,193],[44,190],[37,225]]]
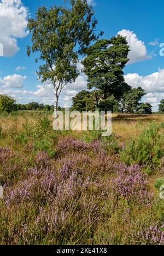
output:
[[[39,7],[36,18],[28,20],[32,47],[27,47],[27,54],[30,56],[31,51],[40,53],[39,59],[44,64],[37,74],[42,82],[49,81],[54,86],[55,117],[62,89],[79,75],[79,55],[86,53],[90,42],[97,39],[97,20],[93,18],[91,5],[87,0],[70,0],[70,4],[71,8],[55,5],[48,10]]]

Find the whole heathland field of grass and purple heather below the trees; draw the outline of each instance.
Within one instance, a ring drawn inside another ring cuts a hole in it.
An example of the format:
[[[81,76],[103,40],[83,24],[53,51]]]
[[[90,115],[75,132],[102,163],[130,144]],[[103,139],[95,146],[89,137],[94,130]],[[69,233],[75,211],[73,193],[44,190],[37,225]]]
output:
[[[52,130],[52,112],[1,116],[0,244],[164,244],[163,121],[114,114],[103,139]]]

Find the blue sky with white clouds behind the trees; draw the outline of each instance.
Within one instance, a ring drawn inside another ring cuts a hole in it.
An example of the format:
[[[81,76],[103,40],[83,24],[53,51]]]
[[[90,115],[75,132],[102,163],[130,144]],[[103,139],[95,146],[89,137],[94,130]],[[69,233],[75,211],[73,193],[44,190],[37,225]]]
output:
[[[156,110],[164,98],[164,56],[160,56],[160,44],[164,42],[164,2],[88,1],[95,9],[97,29],[104,31],[102,38],[118,33],[127,36],[131,53],[124,70],[125,80],[133,87],[142,86],[148,93],[144,101],[150,102]],[[53,104],[52,87],[37,80],[36,55],[30,58],[26,55],[26,45],[31,44],[26,26],[28,15],[34,18],[38,6],[54,4],[65,4],[65,1],[0,0],[0,44],[3,44],[3,54],[0,48],[0,55],[3,55],[0,56],[0,93],[14,96],[19,103]],[[81,74],[74,84],[68,84],[61,95],[61,106],[70,106],[72,96],[86,89],[86,79]]]

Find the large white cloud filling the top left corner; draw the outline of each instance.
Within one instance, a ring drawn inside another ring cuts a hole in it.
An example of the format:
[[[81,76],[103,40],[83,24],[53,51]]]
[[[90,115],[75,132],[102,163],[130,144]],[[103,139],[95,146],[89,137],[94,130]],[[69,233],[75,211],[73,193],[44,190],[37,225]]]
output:
[[[27,17],[28,9],[21,0],[0,0],[0,43],[3,45],[3,56],[13,56],[19,50],[16,38],[27,36]]]

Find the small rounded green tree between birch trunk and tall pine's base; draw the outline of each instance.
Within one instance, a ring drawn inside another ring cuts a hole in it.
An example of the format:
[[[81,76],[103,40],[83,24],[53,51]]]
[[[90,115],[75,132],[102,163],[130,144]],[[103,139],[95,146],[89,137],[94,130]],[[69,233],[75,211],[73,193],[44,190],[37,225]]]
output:
[[[95,110],[95,100],[91,93],[87,90],[82,90],[77,93],[73,98],[73,110],[77,111],[89,111]]]

